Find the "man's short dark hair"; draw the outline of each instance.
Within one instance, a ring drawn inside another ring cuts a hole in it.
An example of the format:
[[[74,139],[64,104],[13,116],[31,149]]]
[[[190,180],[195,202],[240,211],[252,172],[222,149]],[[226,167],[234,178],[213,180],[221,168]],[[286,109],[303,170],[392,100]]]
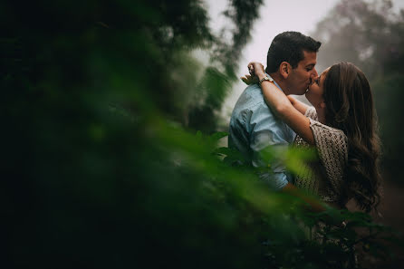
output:
[[[304,59],[303,51],[317,53],[321,42],[299,32],[284,32],[275,36],[266,55],[265,72],[276,72],[281,62],[289,62],[292,68]]]

